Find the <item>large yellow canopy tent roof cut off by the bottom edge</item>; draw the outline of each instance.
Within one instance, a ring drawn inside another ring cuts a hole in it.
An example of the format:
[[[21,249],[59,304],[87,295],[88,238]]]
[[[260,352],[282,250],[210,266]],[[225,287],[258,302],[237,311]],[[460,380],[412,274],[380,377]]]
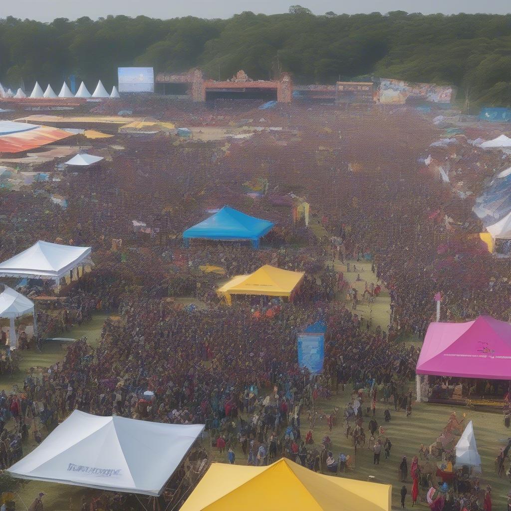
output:
[[[213,463],[181,511],[390,511],[392,486],[318,474],[283,458],[267,467]]]

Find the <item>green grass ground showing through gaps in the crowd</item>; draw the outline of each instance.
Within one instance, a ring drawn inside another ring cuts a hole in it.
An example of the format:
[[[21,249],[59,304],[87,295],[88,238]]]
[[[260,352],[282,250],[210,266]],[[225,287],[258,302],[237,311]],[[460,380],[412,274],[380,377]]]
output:
[[[376,276],[371,272],[371,264],[369,262],[350,261],[353,268],[356,265],[357,271],[346,273],[346,265],[341,264],[340,261],[335,261],[336,271],[343,271],[345,279],[359,291],[363,291],[365,282],[370,285],[371,282],[376,284]],[[357,281],[357,276],[360,275],[360,280]],[[344,294],[339,294],[339,299],[344,300]],[[190,303],[192,299],[184,300],[184,303]],[[383,291],[374,303],[370,306],[368,304],[359,304],[356,311],[364,320],[364,324],[368,318],[372,319],[371,329],[376,328],[378,325],[382,329],[387,328],[389,313],[390,313],[390,300],[388,292]],[[95,314],[91,321],[82,324],[80,327],[74,327],[66,335],[68,337],[79,338],[86,336],[91,344],[96,344],[100,334],[104,319],[108,317],[107,314]],[[405,341],[406,342],[406,341]],[[413,342],[416,342],[415,340]],[[64,354],[59,343],[49,344],[44,347],[43,353],[24,352],[20,368],[21,371],[13,377],[3,376],[0,378],[0,389],[9,391],[12,389],[13,384],[22,386],[22,381],[25,371],[31,366],[45,366],[48,367],[58,361]],[[409,382],[410,389],[413,389],[414,382]],[[317,410],[320,414],[328,414],[334,410],[335,407],[339,408],[339,413],[346,403],[350,400],[351,388],[345,387],[344,391],[339,390],[338,393],[333,393],[330,399],[320,400],[317,403]],[[344,477],[350,477],[360,480],[367,480],[369,476],[374,476],[375,481],[392,484],[392,502],[393,509],[399,509],[400,489],[402,483],[399,476],[399,464],[402,456],[408,456],[411,462],[412,453],[417,453],[421,444],[430,445],[435,442],[437,436],[442,432],[446,423],[449,420],[449,415],[454,410],[458,417],[466,413],[465,421],[473,421],[474,429],[477,434],[477,445],[479,454],[482,459],[483,474],[481,476],[481,486],[486,483],[491,484],[494,490],[494,505],[497,509],[503,508],[505,505],[508,489],[507,478],[498,478],[495,471],[495,457],[498,454],[499,448],[504,445],[504,440],[508,437],[508,431],[504,428],[502,416],[499,413],[475,411],[466,407],[452,407],[437,404],[414,404],[412,407],[412,414],[406,417],[405,412],[394,412],[393,405],[389,405],[391,412],[391,422],[386,424],[383,421],[383,412],[385,409],[384,403],[378,403],[376,419],[378,423],[382,423],[385,428],[385,435],[388,436],[392,443],[390,458],[382,460],[380,466],[373,464],[373,452],[368,449],[368,443],[362,448],[358,448],[355,457],[355,468],[352,471],[347,471],[343,474]],[[248,416],[244,416],[245,419]],[[309,430],[309,420],[307,410],[300,417],[301,419],[301,432],[305,437],[306,432]],[[366,423],[368,417],[364,419]],[[316,421],[313,428],[313,438],[316,444],[321,442],[323,436],[328,435],[332,440],[332,451],[334,456],[338,456],[341,452],[346,455],[354,455],[354,448],[350,439],[346,439],[345,429],[342,426],[342,420],[329,431],[326,416]],[[29,444],[24,445],[24,454],[27,454],[28,449],[33,449],[36,444],[31,438]],[[218,462],[227,462],[226,454],[220,454],[216,448],[210,449],[212,460]],[[238,444],[235,446],[236,463],[246,464],[246,457],[243,455],[241,448]],[[408,476],[406,482],[408,489],[408,496],[411,492],[411,480]],[[67,486],[62,484],[52,484],[47,482],[31,481],[22,486],[19,496],[16,498],[19,509],[24,509],[25,504],[30,503],[34,496],[43,491],[46,495],[44,497],[45,505],[56,511],[78,511],[80,509],[82,497],[85,495],[89,498],[95,492],[76,486]],[[424,490],[421,490],[420,500],[422,502],[419,508],[428,508],[424,501]],[[406,507],[411,507],[411,500],[407,500]]]

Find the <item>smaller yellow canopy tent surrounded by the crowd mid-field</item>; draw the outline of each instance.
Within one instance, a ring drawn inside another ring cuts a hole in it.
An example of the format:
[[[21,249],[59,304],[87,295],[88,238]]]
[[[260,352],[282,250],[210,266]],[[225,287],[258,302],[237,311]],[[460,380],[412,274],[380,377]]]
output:
[[[265,296],[287,296],[291,298],[305,273],[275,268],[265,264],[250,275],[237,275],[217,289],[218,296],[224,296],[231,304],[233,294],[255,294]]]

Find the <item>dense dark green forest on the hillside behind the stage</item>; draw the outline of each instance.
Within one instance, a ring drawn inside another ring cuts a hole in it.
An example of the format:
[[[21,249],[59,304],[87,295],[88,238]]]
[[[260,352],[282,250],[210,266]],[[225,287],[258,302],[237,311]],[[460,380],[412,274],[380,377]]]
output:
[[[314,15],[292,6],[229,19],[0,19],[0,82],[13,88],[38,80],[58,90],[70,75],[111,86],[117,67],[129,65],[155,73],[199,67],[222,79],[239,69],[254,79],[287,71],[302,84],[397,78],[452,84],[458,99],[510,106],[511,15]]]

